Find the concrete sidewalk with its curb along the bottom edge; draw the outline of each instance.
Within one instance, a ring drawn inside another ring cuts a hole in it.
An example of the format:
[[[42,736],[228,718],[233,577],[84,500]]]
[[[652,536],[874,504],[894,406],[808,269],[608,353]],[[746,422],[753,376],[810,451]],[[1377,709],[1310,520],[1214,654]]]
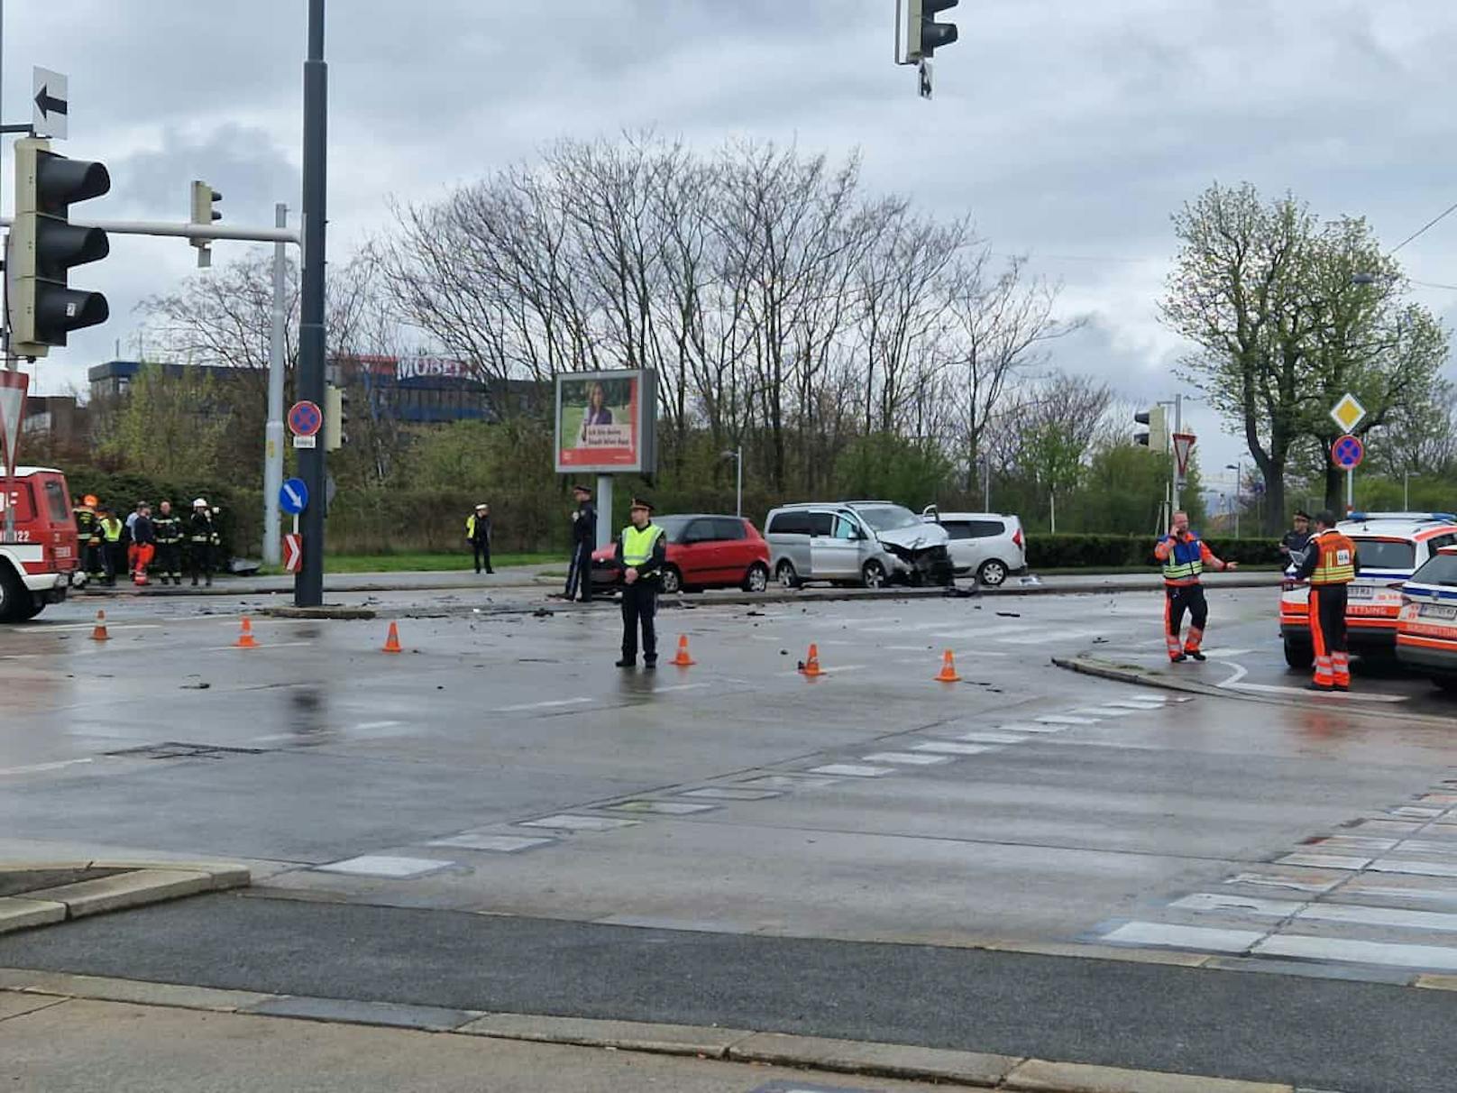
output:
[[[19,982],[6,972],[0,979]],[[947,1084],[1029,1093],[1300,1093],[1285,1083],[747,1029],[485,1014],[86,976],[0,988],[0,1051],[10,1077],[45,1093],[931,1093]]]

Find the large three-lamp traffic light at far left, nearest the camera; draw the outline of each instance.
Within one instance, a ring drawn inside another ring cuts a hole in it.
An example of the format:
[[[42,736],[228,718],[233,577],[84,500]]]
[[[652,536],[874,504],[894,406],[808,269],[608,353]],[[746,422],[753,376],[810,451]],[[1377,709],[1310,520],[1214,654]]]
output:
[[[15,143],[15,223],[6,277],[10,302],[10,348],[20,357],[44,357],[66,335],[95,326],[111,315],[101,293],[71,289],[68,271],[111,252],[106,233],[70,222],[70,207],[111,189],[103,163],[67,159],[48,140]]]

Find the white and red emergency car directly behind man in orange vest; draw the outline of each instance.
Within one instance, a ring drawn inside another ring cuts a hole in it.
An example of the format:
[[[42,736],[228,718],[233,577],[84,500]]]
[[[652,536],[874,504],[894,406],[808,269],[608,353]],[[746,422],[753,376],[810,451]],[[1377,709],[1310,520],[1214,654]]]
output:
[[[1346,637],[1352,653],[1396,650],[1402,589],[1444,546],[1457,546],[1451,513],[1352,513],[1336,528],[1356,545],[1356,579],[1346,589]],[[1285,663],[1307,669],[1316,650],[1310,640],[1310,586],[1281,586],[1279,632]]]

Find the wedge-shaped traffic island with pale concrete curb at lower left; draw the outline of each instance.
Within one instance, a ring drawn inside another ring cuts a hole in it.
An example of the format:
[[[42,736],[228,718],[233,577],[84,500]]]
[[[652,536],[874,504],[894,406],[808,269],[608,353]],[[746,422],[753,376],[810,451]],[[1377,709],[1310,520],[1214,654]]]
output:
[[[248,869],[227,863],[0,863],[0,934],[251,882]]]

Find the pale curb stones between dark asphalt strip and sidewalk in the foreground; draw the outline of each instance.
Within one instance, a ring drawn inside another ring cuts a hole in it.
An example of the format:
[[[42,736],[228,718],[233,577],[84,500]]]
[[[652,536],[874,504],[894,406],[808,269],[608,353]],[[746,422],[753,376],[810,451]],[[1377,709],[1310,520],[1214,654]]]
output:
[[[284,1020],[370,1025],[436,1035],[516,1039],[659,1055],[769,1062],[873,1077],[947,1083],[1018,1093],[1317,1093],[1285,1083],[1240,1081],[1122,1070],[870,1041],[838,1041],[712,1026],[653,1025],[522,1013],[478,1013],[433,1006],[358,1003],[205,987],[0,968],[0,997],[45,995],[237,1013]],[[19,1013],[10,1014],[22,1016]],[[0,1016],[0,1022],[6,1017]],[[1329,1093],[1335,1093],[1330,1090]]]

